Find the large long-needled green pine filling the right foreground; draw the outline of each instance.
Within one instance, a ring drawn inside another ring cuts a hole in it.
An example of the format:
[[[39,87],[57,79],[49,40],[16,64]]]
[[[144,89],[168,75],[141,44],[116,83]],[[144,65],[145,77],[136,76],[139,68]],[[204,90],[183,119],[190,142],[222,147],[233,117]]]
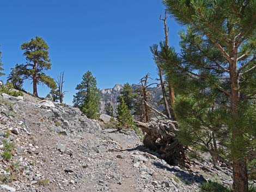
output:
[[[247,160],[256,147],[256,4],[163,2],[187,26],[180,33],[182,62],[170,67],[184,77],[184,95],[175,100],[179,138],[233,166],[234,192],[247,192]],[[158,59],[168,61],[164,56]]]

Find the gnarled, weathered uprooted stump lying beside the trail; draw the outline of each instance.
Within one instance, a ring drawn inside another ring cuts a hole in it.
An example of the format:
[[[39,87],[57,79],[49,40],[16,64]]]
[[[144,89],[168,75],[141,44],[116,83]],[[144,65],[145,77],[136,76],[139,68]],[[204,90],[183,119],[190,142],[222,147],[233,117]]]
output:
[[[185,164],[185,147],[175,139],[175,132],[178,131],[175,121],[136,122],[136,125],[146,133],[143,139],[146,147],[159,153],[169,164]]]

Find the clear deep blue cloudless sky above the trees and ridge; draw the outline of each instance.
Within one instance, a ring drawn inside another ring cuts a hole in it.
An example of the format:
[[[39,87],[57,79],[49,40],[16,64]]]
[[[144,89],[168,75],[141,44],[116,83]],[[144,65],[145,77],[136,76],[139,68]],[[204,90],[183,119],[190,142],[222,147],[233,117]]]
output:
[[[50,47],[52,69],[46,74],[57,78],[65,71],[66,103],[72,103],[75,86],[88,70],[100,89],[138,83],[147,72],[157,77],[149,46],[164,38],[161,0],[5,0],[0,6],[4,72],[25,63],[21,44],[40,36]],[[168,25],[170,45],[178,49],[181,26],[173,18]],[[30,82],[25,89],[32,92]],[[50,91],[38,89],[42,97]]]

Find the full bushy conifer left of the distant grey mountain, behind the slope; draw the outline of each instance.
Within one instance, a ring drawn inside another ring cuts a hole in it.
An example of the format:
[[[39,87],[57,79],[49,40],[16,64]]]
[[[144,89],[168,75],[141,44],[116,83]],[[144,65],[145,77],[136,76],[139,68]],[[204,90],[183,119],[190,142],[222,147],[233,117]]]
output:
[[[92,72],[84,73],[82,82],[76,86],[78,92],[74,96],[74,106],[79,107],[82,113],[90,119],[96,119],[99,115],[100,90],[96,87],[96,78]]]

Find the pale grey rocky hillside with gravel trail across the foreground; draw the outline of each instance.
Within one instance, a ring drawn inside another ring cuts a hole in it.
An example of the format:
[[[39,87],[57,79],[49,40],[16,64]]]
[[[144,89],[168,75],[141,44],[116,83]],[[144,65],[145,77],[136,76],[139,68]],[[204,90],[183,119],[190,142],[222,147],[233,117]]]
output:
[[[135,132],[101,129],[71,106],[0,96],[0,191],[199,191],[231,183],[231,170],[194,161],[170,166]]]

